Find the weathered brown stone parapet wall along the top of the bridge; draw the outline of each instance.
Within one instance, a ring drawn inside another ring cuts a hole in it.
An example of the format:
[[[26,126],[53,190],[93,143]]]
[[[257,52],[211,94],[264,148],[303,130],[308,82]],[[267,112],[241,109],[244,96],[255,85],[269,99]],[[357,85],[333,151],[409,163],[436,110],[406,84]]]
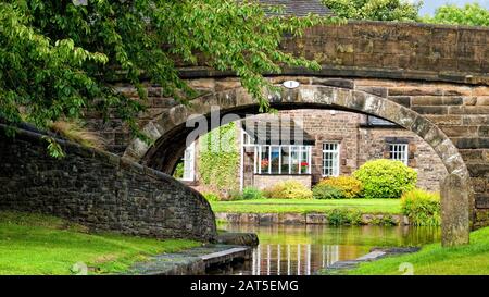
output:
[[[488,44],[484,27],[349,22],[316,26],[283,48],[317,60],[325,74],[488,84]]]

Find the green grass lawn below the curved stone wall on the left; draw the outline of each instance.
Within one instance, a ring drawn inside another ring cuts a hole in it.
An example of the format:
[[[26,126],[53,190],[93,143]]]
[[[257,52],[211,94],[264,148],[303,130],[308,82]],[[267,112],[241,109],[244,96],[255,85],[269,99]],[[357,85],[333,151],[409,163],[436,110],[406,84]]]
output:
[[[116,234],[88,234],[64,220],[0,212],[0,274],[73,274],[84,262],[89,273],[117,273],[148,256],[199,246],[191,240],[156,240]]]

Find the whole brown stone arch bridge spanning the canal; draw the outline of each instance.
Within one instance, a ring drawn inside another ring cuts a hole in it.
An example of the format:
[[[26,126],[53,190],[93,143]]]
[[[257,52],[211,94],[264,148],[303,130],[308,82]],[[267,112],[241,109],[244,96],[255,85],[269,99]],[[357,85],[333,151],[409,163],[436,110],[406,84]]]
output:
[[[323,69],[285,69],[268,75],[296,89],[269,94],[277,109],[339,109],[394,122],[425,139],[446,165],[442,184],[443,243],[468,242],[469,227],[489,225],[489,29],[414,23],[350,22],[321,26],[285,38],[288,52],[317,60]],[[185,149],[192,114],[209,116],[211,106],[226,113],[256,113],[256,101],[234,73],[181,65],[180,75],[201,96],[189,107],[163,98],[149,86],[150,106],[140,125],[154,144],[130,139],[117,119],[88,119],[126,159],[171,173]],[[128,96],[134,88],[116,87]]]

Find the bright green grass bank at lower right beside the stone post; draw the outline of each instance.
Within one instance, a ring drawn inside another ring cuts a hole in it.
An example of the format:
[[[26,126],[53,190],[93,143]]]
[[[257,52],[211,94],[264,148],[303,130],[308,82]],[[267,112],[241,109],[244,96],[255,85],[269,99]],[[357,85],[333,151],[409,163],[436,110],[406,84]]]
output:
[[[489,274],[489,227],[471,234],[471,245],[441,248],[440,244],[425,246],[419,252],[363,263],[349,274],[401,274],[399,265],[412,263],[419,275],[478,275]]]

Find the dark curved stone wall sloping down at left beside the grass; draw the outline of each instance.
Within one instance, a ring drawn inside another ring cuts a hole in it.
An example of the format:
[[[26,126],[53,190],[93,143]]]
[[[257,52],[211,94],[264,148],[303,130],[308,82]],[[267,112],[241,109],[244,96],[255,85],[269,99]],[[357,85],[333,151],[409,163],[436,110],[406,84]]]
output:
[[[0,126],[0,210],[36,211],[95,231],[211,240],[209,202],[159,171],[112,153],[60,140],[66,157],[46,151],[41,134]]]

